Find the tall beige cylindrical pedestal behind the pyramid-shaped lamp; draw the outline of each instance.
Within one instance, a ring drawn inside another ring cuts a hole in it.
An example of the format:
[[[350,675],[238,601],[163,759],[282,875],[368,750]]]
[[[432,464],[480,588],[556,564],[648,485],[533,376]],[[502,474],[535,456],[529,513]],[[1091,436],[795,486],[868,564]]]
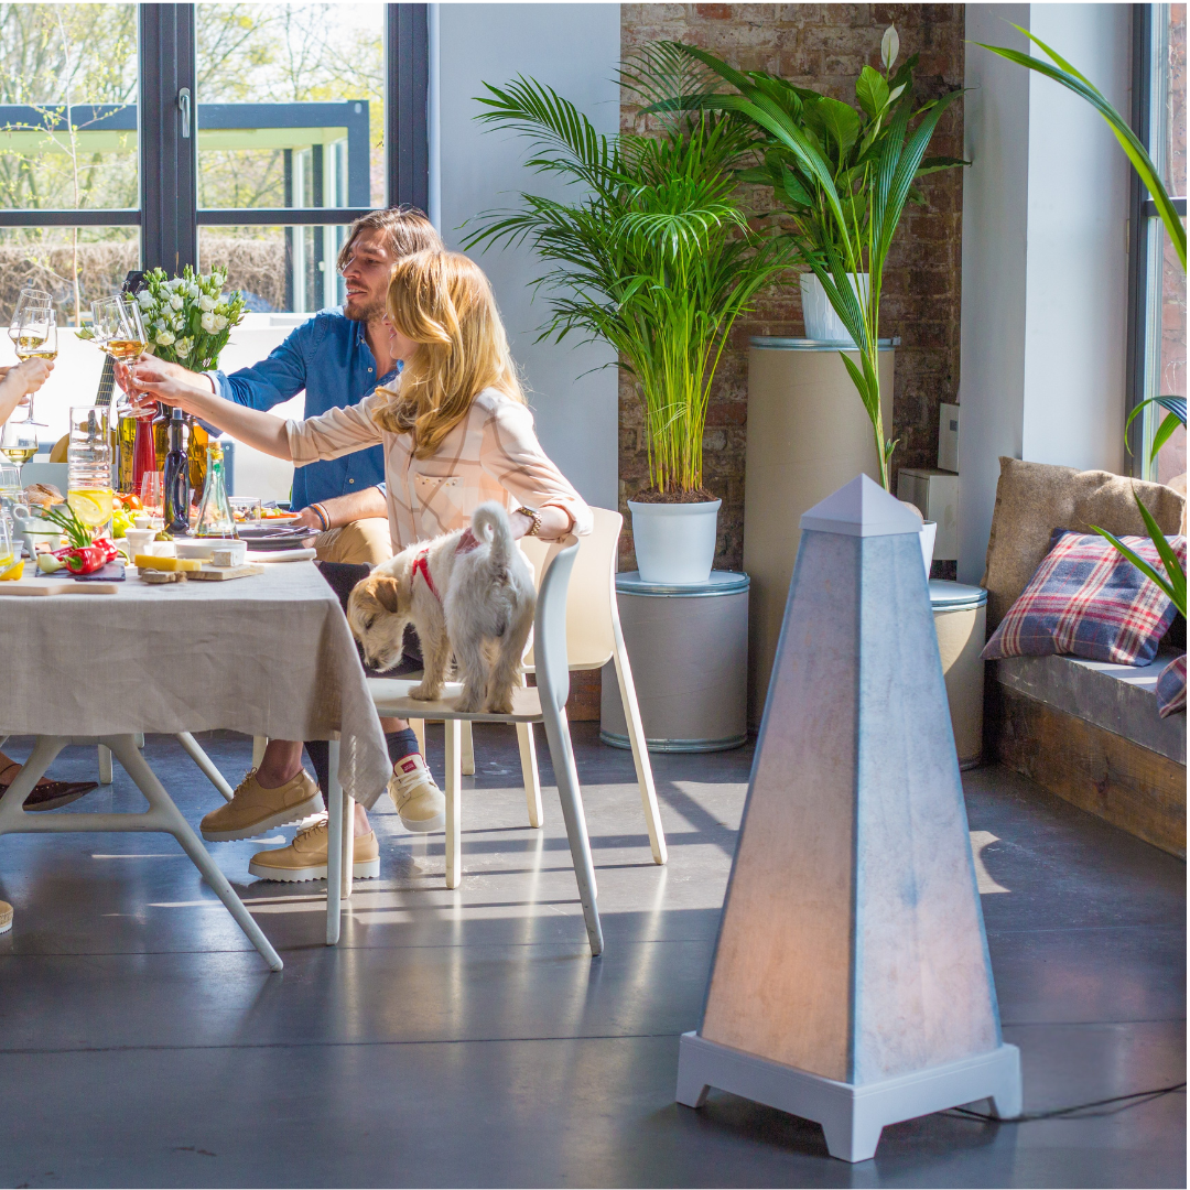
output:
[[[858,365],[859,352],[847,356]],[[881,340],[881,408],[892,428],[892,345]],[[798,521],[866,471],[876,439],[838,344],[757,337],[749,352],[744,569],[752,577],[749,719],[760,722],[801,540]]]

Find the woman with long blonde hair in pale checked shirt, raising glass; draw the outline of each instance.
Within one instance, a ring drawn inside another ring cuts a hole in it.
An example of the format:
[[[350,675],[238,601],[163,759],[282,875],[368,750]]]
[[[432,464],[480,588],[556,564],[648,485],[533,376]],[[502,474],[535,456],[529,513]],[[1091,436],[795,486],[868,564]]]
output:
[[[157,371],[151,358],[140,361],[133,382],[146,399],[181,406],[298,466],[378,443],[394,552],[468,525],[487,500],[509,509],[516,537],[555,540],[589,533],[590,509],[533,432],[500,312],[478,265],[457,252],[419,252],[401,261],[393,269],[387,322],[392,355],[405,361],[399,380],[358,405],[305,421],[282,421],[224,401],[208,388]],[[406,737],[407,751],[394,756],[389,779],[401,821],[415,832],[439,829],[445,798],[413,732],[400,720],[382,720],[382,726],[390,740],[393,733]],[[292,741],[275,749],[281,763],[269,775],[270,784],[262,787],[259,775],[249,774],[236,797],[202,820],[203,835],[249,839],[315,813],[318,789],[302,770],[301,747]],[[325,876],[326,834],[325,822],[300,831],[290,846],[256,854],[250,871],[286,881]],[[356,875],[378,872],[376,838],[358,806],[355,857]]]

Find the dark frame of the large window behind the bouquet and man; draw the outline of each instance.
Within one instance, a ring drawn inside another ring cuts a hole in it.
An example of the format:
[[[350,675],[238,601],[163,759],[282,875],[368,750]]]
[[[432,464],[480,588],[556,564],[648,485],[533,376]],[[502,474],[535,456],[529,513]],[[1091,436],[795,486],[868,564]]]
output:
[[[140,267],[177,274],[187,264],[198,267],[199,227],[333,226],[374,209],[199,207],[195,6],[137,7],[139,208],[0,211],[0,227],[139,227]],[[386,202],[421,209],[430,195],[427,8],[425,4],[384,5]]]

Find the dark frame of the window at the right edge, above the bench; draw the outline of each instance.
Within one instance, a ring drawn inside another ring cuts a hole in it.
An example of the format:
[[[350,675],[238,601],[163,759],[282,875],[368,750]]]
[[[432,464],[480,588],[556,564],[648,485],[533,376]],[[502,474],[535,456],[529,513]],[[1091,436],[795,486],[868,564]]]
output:
[[[1132,6],[1132,127],[1150,156],[1153,154],[1153,101],[1158,61],[1158,44],[1154,39],[1154,15],[1164,7],[1157,4]],[[1161,306],[1161,258],[1158,248],[1161,236],[1151,232],[1159,227],[1157,203],[1134,170],[1128,171],[1128,345],[1125,394],[1125,415],[1148,396],[1155,396],[1153,370],[1160,370],[1160,306]],[[1184,195],[1171,195],[1178,214],[1185,218]],[[1157,314],[1155,342],[1154,321]],[[1148,462],[1148,444],[1160,411],[1154,414],[1150,406],[1128,427],[1128,465],[1138,480],[1155,476],[1155,463]]]

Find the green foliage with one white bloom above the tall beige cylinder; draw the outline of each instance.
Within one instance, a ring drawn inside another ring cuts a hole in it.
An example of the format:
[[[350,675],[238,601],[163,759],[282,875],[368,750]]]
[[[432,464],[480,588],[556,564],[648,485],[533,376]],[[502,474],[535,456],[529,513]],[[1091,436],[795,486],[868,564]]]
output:
[[[916,55],[892,74],[896,31],[882,43],[885,73],[864,67],[856,81],[859,111],[794,87],[763,70],[741,73],[693,45],[677,49],[701,62],[734,92],[688,93],[679,105],[737,113],[749,121],[760,164],[741,181],[771,188],[782,234],[819,278],[859,349],[859,363],[840,352],[872,424],[881,481],[891,483],[895,441],[884,437],[878,368],[879,303],[884,265],[906,202],[923,202],[917,178],[965,162],[926,157],[931,138],[959,90],[914,107]],[[852,283],[869,275],[868,292]]]

